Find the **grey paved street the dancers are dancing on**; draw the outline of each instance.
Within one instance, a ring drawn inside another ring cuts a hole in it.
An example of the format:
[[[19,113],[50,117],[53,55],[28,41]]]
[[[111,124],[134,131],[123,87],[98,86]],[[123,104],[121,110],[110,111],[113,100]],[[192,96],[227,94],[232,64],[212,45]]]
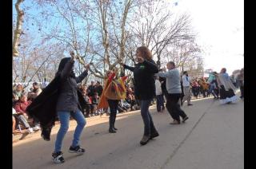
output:
[[[238,94],[239,95],[239,94]],[[108,116],[87,119],[82,133],[84,155],[68,152],[75,122],[63,142],[65,163],[54,164],[51,153],[59,125],[53,129],[50,142],[40,132],[26,140],[13,143],[13,168],[98,168],[98,169],[242,169],[244,168],[244,103],[220,105],[206,98],[186,103],[189,116],[186,124],[170,125],[168,112],[157,113],[150,108],[160,134],[141,146],[143,124],[139,111],[118,115],[118,132],[108,133]]]

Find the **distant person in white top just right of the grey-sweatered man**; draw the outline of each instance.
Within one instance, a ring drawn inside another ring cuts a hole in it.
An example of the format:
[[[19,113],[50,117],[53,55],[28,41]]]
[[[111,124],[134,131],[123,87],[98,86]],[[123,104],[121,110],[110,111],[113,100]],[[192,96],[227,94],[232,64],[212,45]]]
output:
[[[191,78],[189,77],[189,74],[184,71],[182,76],[182,85],[183,85],[183,91],[184,91],[184,97],[182,100],[182,104],[187,100],[187,105],[193,105],[191,104],[191,90],[190,90],[190,81]]]

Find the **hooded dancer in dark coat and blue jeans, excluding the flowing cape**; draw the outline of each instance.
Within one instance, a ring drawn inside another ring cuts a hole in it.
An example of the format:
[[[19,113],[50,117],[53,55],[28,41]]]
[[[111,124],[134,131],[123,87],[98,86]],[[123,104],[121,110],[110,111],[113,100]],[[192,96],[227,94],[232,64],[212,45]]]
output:
[[[58,100],[56,104],[56,111],[58,119],[60,120],[60,128],[58,130],[57,138],[55,141],[55,148],[52,154],[54,163],[63,163],[62,156],[62,140],[69,128],[70,116],[77,121],[77,127],[74,130],[74,139],[70,146],[70,153],[78,153],[82,155],[85,149],[79,145],[82,130],[86,125],[86,120],[82,112],[78,109],[78,83],[80,83],[86,76],[89,65],[86,65],[86,70],[79,76],[74,75],[74,53],[70,53],[71,57],[62,59],[58,66],[56,77],[60,76],[60,85],[58,87]]]

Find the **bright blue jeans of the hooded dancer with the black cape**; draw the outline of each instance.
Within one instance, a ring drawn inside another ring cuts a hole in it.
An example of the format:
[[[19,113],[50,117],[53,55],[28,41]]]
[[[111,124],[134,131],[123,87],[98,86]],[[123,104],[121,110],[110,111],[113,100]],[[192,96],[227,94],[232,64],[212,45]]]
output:
[[[77,112],[60,111],[58,112],[58,120],[61,123],[61,127],[58,130],[54,152],[61,151],[62,149],[62,141],[64,139],[64,136],[66,135],[67,130],[69,129],[70,116],[72,116],[78,124],[74,130],[74,139],[71,146],[75,147],[79,145],[79,138],[82,134],[82,129],[86,125],[86,119],[84,118],[80,110],[78,110]]]

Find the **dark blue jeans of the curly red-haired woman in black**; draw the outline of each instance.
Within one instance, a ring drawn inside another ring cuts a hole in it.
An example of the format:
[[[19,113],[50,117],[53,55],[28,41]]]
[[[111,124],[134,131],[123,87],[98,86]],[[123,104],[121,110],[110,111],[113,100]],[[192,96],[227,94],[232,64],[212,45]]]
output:
[[[157,132],[149,112],[151,100],[140,100],[142,120],[144,123],[144,136],[150,136],[151,133]]]

